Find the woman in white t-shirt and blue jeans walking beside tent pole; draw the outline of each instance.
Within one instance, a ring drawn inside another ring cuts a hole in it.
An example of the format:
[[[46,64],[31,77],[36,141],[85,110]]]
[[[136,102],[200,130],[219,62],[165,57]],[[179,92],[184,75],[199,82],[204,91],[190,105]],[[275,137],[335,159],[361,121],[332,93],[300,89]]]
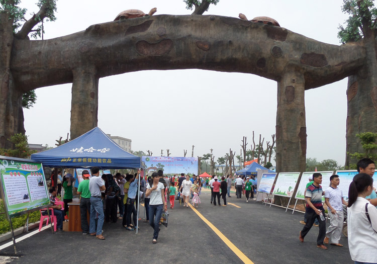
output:
[[[162,210],[166,211],[166,202],[164,197],[165,188],[162,183],[158,182],[157,172],[152,173],[152,181],[147,185],[145,196],[150,195],[149,201],[149,224],[153,227],[153,244],[157,243],[158,232],[160,231],[158,223],[161,219]]]

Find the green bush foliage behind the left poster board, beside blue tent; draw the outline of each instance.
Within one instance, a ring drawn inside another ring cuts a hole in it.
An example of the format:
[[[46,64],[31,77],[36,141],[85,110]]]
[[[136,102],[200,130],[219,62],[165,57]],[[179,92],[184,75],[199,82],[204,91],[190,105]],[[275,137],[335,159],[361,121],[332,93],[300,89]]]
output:
[[[10,141],[13,143],[13,149],[0,149],[0,155],[15,157],[15,158],[29,158],[35,150],[30,150],[28,145],[28,137],[22,133],[15,134]]]

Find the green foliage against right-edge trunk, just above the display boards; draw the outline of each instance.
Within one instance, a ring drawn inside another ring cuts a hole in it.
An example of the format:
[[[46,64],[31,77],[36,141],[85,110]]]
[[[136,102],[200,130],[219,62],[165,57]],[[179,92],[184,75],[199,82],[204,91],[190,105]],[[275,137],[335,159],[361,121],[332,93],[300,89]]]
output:
[[[355,152],[355,153],[347,153],[349,156],[355,160],[359,160],[362,158],[371,158],[373,160],[377,159],[377,154],[375,149],[377,149],[376,139],[377,133],[372,132],[365,132],[356,134],[356,136],[360,139],[362,148],[365,150],[363,153]],[[356,169],[356,164],[350,164],[349,168]]]

